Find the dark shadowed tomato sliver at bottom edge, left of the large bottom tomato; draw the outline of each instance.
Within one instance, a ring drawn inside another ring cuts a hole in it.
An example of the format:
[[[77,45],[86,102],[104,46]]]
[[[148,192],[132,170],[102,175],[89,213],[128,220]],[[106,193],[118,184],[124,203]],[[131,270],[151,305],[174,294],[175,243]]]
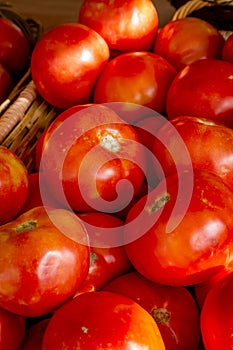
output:
[[[41,350],[44,333],[49,321],[50,318],[44,318],[28,328],[20,350]]]

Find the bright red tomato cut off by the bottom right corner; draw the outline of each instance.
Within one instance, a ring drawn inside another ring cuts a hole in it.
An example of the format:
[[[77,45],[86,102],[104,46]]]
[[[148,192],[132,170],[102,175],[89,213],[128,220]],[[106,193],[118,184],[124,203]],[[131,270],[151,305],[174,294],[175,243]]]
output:
[[[233,273],[219,280],[201,310],[201,333],[206,350],[233,348]]]

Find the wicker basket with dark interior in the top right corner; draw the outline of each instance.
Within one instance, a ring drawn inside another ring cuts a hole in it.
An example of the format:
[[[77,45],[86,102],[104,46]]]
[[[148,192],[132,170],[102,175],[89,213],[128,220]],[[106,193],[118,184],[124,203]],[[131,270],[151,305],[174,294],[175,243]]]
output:
[[[206,11],[204,13],[204,11]],[[223,14],[223,18],[219,15]],[[217,18],[214,18],[214,15]],[[230,0],[190,0],[177,9],[173,20],[188,16],[199,17],[216,26],[225,39],[233,33],[233,1]],[[221,22],[220,19],[227,19]]]

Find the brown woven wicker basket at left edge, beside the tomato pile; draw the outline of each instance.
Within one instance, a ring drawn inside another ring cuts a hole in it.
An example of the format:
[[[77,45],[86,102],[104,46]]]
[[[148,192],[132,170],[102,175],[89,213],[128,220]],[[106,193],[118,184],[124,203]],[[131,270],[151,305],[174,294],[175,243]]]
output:
[[[43,28],[31,18],[24,18],[9,3],[0,3],[0,17],[13,20],[27,36],[31,50]],[[29,172],[34,169],[35,145],[58,111],[37,93],[30,68],[15,79],[13,89],[0,105],[0,144],[15,152]]]

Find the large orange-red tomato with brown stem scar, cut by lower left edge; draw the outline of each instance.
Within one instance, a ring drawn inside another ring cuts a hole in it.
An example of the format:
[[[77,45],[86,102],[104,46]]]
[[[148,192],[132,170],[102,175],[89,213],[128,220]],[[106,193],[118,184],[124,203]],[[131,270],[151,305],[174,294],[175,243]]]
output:
[[[41,316],[72,297],[89,268],[88,236],[71,212],[37,207],[0,227],[0,306]]]

